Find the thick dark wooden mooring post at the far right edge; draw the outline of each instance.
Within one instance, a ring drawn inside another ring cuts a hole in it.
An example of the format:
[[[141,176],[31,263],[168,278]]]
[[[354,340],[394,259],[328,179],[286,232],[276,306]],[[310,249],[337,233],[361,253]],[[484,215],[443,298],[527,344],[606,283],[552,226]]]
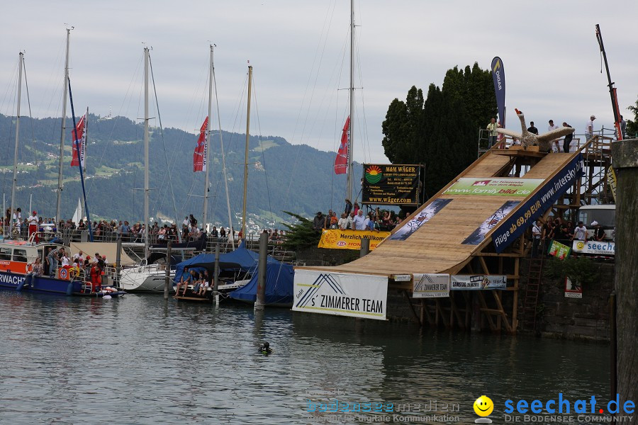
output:
[[[638,139],[622,140],[612,143],[613,167],[616,170],[616,341],[611,341],[612,347],[617,346],[616,370],[612,376],[617,377],[612,382],[612,399],[620,395],[618,407],[626,401],[636,402],[638,398],[638,255],[635,244],[638,240]],[[612,365],[613,367],[613,365]],[[620,409],[619,409],[620,410]],[[638,424],[638,421],[630,421]]]

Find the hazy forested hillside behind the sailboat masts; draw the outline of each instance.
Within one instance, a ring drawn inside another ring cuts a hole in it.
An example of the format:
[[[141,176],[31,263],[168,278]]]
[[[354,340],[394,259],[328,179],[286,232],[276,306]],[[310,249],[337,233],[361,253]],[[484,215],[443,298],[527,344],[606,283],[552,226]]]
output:
[[[15,118],[0,115],[0,172],[6,208],[11,203],[11,178],[15,142]],[[60,118],[21,118],[18,148],[17,206],[28,210],[30,196],[38,215],[55,215]],[[62,217],[71,217],[82,196],[79,169],[70,167],[72,120],[67,119]],[[245,135],[223,132],[228,190],[233,224],[239,225],[242,207]],[[196,135],[174,128],[152,128],[150,135],[150,215],[174,218],[172,183],[177,215],[203,212],[204,173],[193,172]],[[99,120],[89,116],[85,184],[91,217],[142,220],[143,126],[123,117]],[[164,146],[166,149],[164,149]],[[220,135],[211,140],[211,179],[209,185],[210,222],[228,225],[225,188],[220,154]],[[291,145],[281,137],[250,137],[248,212],[262,222],[289,220],[282,211],[312,217],[318,210],[342,208],[345,175],[332,171],[334,152],[322,152],[306,145]],[[169,180],[169,174],[171,179]],[[355,166],[354,176],[362,169]],[[357,193],[359,191],[359,179]],[[257,221],[257,220],[256,220]]]

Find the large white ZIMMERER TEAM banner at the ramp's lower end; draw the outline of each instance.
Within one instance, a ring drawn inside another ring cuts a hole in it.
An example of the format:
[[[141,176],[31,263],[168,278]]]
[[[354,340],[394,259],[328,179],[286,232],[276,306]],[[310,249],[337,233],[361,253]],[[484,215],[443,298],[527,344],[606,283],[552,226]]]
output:
[[[352,273],[296,270],[293,310],[386,319],[388,278]]]

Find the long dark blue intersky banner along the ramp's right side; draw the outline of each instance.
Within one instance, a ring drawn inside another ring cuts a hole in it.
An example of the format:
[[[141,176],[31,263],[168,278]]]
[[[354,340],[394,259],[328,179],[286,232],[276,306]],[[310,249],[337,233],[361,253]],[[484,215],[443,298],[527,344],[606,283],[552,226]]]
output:
[[[583,175],[583,155],[578,154],[561,169],[556,176],[547,181],[530,198],[525,200],[515,212],[509,215],[492,234],[494,248],[500,254],[510,246],[527,227],[547,211]]]

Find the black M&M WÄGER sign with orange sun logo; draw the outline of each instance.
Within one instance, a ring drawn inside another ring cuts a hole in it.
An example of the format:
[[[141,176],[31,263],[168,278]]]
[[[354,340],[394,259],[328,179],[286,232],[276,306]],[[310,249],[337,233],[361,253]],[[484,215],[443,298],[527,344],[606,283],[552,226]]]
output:
[[[421,166],[363,164],[362,203],[374,205],[419,205]]]

